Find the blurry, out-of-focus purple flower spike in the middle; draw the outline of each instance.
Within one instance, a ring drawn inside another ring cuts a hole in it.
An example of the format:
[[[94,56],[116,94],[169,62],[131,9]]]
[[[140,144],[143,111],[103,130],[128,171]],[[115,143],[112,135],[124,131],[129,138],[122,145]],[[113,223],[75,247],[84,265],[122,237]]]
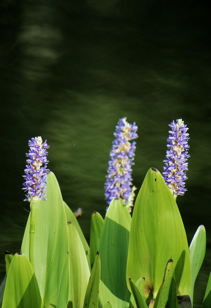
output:
[[[113,133],[117,139],[113,141],[110,151],[108,175],[105,182],[105,199],[110,204],[113,198],[121,198],[131,212],[135,197],[134,190],[136,189],[135,186],[131,187],[133,180],[131,165],[134,164],[136,142],[130,143],[129,141],[138,137],[136,133],[138,127],[135,122],[129,124],[126,120],[126,117],[120,119],[116,126],[116,132]]]

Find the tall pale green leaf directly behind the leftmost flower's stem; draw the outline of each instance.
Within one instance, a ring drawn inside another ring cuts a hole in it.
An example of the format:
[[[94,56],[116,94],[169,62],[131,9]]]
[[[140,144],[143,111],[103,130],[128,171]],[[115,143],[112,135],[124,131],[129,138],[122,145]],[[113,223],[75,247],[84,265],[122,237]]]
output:
[[[57,305],[60,280],[68,251],[64,204],[58,182],[52,172],[47,173],[46,198],[46,201],[40,200],[36,212],[34,270],[44,306],[51,308]],[[27,257],[29,256],[29,221],[21,249]]]

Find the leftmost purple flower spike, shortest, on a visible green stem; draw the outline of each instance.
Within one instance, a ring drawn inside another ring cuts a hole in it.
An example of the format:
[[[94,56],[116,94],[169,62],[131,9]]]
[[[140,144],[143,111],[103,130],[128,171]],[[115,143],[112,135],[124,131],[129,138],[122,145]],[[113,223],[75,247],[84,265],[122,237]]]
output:
[[[26,199],[24,201],[31,201],[32,198],[40,198],[46,200],[46,184],[47,184],[47,175],[49,171],[47,169],[47,155],[46,151],[49,148],[49,145],[45,142],[42,143],[41,137],[35,137],[29,140],[29,153],[26,153],[26,157],[29,157],[26,162],[26,169],[24,170],[26,175],[25,182],[23,183],[24,191],[28,191],[26,194]],[[45,164],[42,167],[42,164]]]

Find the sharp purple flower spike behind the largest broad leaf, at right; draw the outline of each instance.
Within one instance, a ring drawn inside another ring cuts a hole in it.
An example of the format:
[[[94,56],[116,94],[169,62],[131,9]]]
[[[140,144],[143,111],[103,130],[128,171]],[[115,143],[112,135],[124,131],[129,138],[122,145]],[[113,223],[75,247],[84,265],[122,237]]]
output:
[[[167,139],[169,150],[166,151],[163,177],[176,199],[177,195],[183,195],[187,190],[185,180],[187,180],[186,170],[188,170],[186,161],[189,157],[189,134],[186,133],[188,128],[182,119],[177,120],[177,123],[173,121],[169,126],[172,130],[169,131],[170,135]]]

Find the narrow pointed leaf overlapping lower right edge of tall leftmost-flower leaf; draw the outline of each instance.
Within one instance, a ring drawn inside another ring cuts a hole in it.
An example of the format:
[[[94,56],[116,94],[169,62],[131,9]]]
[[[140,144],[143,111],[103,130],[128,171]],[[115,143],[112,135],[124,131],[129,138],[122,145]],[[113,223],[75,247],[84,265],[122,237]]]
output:
[[[67,308],[70,292],[70,262],[67,253],[59,286],[57,308]]]

